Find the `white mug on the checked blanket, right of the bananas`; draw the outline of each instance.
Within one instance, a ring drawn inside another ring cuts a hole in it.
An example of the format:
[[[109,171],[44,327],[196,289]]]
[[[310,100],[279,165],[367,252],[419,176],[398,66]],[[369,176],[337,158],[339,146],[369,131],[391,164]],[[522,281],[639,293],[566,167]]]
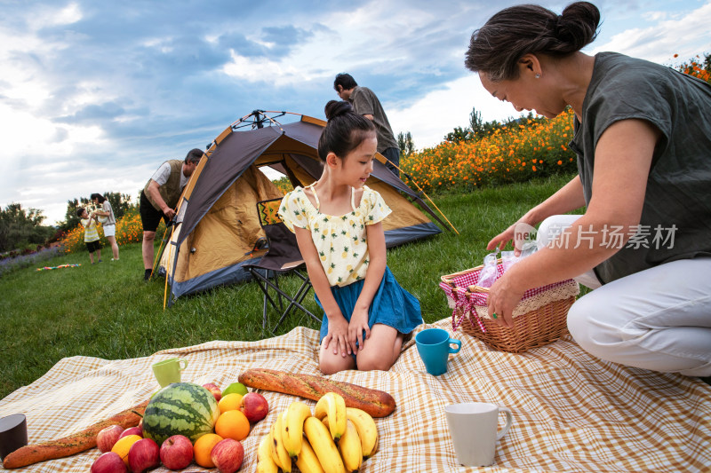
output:
[[[499,412],[506,425],[498,430]],[[511,410],[486,402],[466,402],[444,407],[457,461],[465,467],[487,467],[494,462],[496,441],[511,428]]]

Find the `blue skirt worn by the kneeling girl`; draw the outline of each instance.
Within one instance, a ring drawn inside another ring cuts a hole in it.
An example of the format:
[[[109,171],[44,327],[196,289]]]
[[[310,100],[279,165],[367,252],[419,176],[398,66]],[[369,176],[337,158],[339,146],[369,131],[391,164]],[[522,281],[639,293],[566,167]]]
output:
[[[348,322],[353,315],[353,309],[356,307],[364,283],[365,280],[359,280],[342,288],[340,286],[331,288],[333,297],[339,304],[340,313]],[[318,300],[316,292],[314,295],[316,304],[323,310],[324,306]],[[419,310],[419,301],[397,283],[390,268],[386,266],[380,287],[373,296],[371,307],[368,309],[368,327],[384,324],[407,335],[421,323],[423,320],[422,311]],[[324,319],[321,321],[321,340],[324,340],[326,335],[328,335],[328,318],[324,313]]]

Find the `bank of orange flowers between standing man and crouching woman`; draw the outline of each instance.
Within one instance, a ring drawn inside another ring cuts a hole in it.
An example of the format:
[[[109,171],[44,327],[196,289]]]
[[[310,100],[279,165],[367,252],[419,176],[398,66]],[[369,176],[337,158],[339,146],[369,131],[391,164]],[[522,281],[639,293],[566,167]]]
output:
[[[477,140],[445,141],[403,158],[401,168],[425,190],[471,190],[577,170],[571,110],[552,120],[511,123]]]

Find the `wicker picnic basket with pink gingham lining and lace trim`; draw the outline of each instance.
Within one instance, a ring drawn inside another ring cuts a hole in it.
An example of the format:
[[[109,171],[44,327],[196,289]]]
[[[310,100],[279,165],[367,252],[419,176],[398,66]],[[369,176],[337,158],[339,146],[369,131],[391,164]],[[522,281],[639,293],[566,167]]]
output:
[[[580,288],[574,280],[563,280],[527,290],[514,309],[514,327],[500,327],[489,316],[489,288],[475,286],[483,265],[442,276],[439,286],[451,308],[451,327],[475,336],[495,350],[522,353],[555,342],[568,332],[566,317]],[[501,260],[497,264],[503,273]]]

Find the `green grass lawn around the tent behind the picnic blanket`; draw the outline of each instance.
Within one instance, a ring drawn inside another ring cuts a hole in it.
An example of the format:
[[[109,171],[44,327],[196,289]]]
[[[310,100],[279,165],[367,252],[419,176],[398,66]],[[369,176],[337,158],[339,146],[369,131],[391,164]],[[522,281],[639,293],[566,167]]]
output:
[[[450,315],[437,286],[441,275],[481,264],[492,236],[569,179],[438,194],[435,203],[459,235],[445,232],[387,253],[397,280],[419,298],[425,321]],[[143,282],[140,245],[122,247],[118,262],[108,261],[110,248],[104,248],[103,256],[104,262],[94,265],[86,252],[58,256],[42,265],[82,266],[44,272],[30,267],[0,278],[0,398],[65,357],[130,359],[211,340],[271,336],[261,327],[262,297],[256,283],[181,297],[164,311],[164,280]],[[297,284],[296,278],[286,282]],[[310,294],[306,305],[320,313]],[[270,316],[273,327],[276,313]],[[297,326],[318,328],[318,323],[299,312],[278,333]]]

